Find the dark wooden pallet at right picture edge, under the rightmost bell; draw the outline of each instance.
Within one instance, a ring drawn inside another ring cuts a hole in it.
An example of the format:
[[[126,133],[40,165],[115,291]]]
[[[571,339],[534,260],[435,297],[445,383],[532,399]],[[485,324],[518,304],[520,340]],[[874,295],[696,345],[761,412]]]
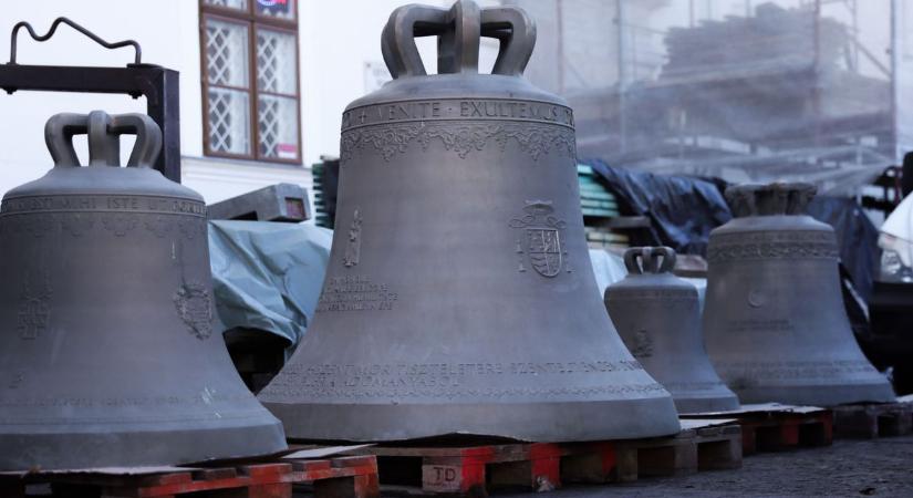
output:
[[[913,432],[913,396],[896,403],[867,403],[833,407],[837,437],[875,438],[903,436]]]

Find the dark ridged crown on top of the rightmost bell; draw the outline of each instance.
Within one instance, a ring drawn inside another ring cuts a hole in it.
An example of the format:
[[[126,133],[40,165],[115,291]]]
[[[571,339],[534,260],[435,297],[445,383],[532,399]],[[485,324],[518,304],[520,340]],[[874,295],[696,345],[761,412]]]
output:
[[[726,189],[733,216],[802,215],[818,188],[806,183],[737,185]]]

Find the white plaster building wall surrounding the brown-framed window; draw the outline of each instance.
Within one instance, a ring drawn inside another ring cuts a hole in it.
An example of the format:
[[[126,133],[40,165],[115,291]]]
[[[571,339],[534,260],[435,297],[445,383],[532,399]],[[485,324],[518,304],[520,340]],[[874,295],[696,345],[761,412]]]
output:
[[[311,188],[310,165],[321,155],[339,154],[342,111],[365,94],[365,63],[383,63],[381,31],[390,13],[407,0],[301,0],[299,6],[299,56],[301,84],[301,144],[303,167],[228,160],[203,156],[203,111],[199,71],[199,11],[197,0],[43,0],[2,1],[0,6],[0,62],[9,54],[13,24],[25,20],[40,33],[53,19],[66,15],[108,41],[134,39],[143,46],[143,61],[180,72],[180,147],[183,181],[207,201],[271,185],[297,183]],[[450,0],[423,3],[449,6]],[[483,0],[497,4],[498,0]],[[434,72],[434,42],[419,42],[419,50]],[[497,52],[484,43],[483,66],[490,66]],[[133,62],[128,49],[107,51],[62,25],[44,43],[20,32],[18,60],[23,64],[113,65]],[[122,95],[63,94],[49,92],[0,93],[0,193],[34,179],[50,167],[44,147],[44,122],[59,112],[145,112],[144,98]],[[131,142],[124,142],[126,160]],[[76,149],[86,157],[85,139]]]

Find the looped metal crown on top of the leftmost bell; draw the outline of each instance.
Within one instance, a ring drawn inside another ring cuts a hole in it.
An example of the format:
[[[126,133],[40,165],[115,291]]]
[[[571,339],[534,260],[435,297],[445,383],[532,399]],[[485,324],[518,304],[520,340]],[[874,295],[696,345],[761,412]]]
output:
[[[80,166],[73,148],[74,135],[89,135],[90,166],[120,167],[121,135],[136,135],[127,167],[152,168],[162,151],[162,129],[145,114],[61,113],[44,125],[44,143],[55,168]]]

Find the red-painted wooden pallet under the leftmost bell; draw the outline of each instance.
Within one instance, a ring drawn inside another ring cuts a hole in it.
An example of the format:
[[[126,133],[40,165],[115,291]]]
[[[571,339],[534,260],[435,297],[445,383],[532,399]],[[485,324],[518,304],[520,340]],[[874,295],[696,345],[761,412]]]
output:
[[[312,485],[317,498],[380,496],[373,456],[214,467],[4,473],[0,475],[0,496],[22,498],[41,488],[50,489],[51,497],[176,498],[203,491],[209,498],[291,498],[295,484]]]

